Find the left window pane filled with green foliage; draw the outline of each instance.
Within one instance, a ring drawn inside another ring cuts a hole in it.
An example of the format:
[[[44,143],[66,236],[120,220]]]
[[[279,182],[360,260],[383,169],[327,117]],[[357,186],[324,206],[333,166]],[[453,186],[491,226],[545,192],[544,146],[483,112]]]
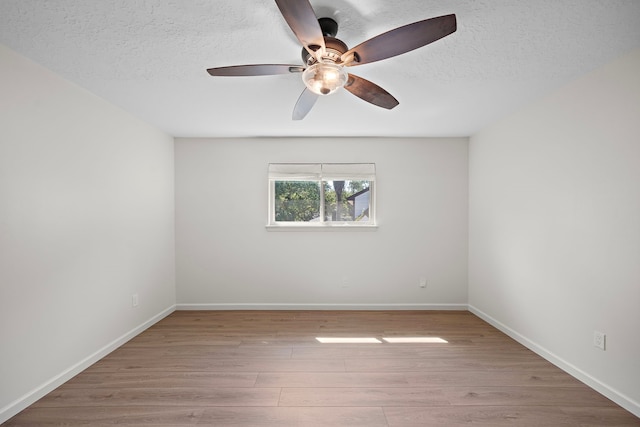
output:
[[[309,222],[320,220],[318,181],[275,181],[275,220]]]

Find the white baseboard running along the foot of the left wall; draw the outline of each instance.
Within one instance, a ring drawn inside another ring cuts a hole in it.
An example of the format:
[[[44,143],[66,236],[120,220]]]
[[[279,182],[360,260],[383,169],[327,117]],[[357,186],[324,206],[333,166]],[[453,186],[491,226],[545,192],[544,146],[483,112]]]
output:
[[[135,328],[125,333],[124,335],[111,341],[109,344],[105,345],[95,353],[87,356],[86,358],[82,359],[75,365],[67,368],[63,372],[59,373],[55,377],[45,382],[44,384],[36,387],[35,389],[31,390],[25,395],[14,400],[4,408],[0,409],[0,424],[4,423],[9,418],[18,414],[23,409],[26,409],[29,405],[32,405],[33,403],[35,403],[38,399],[41,399],[48,393],[52,392],[53,390],[55,390],[65,382],[69,381],[74,376],[78,375],[80,372],[87,369],[89,366],[96,363],[98,360],[102,359],[103,357],[105,357],[106,355],[108,355],[109,353],[111,353],[121,345],[125,344],[127,341],[129,341],[136,335],[145,331],[153,324],[164,319],[174,311],[175,311],[175,305],[163,310],[162,312],[156,314],[151,319],[147,320],[141,325],[136,326]]]

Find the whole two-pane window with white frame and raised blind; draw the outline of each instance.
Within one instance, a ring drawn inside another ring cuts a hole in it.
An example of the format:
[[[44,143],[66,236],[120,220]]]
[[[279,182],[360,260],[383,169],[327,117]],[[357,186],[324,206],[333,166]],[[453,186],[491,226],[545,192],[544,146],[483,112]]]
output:
[[[271,163],[269,226],[375,226],[375,164]]]

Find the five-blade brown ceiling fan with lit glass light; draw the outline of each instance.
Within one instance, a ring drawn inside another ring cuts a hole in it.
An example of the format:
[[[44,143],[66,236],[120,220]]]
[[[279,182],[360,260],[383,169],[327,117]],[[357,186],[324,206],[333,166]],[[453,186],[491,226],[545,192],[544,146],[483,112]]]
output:
[[[303,119],[320,96],[341,87],[378,107],[398,105],[389,92],[368,80],[348,73],[346,67],[391,58],[425,46],[456,31],[456,16],[444,15],[398,27],[354,48],[335,38],[338,23],[316,17],[308,0],[275,0],[282,16],[303,46],[304,65],[253,64],[209,68],[212,76],[265,76],[302,73],[306,88],[293,109],[293,120]]]

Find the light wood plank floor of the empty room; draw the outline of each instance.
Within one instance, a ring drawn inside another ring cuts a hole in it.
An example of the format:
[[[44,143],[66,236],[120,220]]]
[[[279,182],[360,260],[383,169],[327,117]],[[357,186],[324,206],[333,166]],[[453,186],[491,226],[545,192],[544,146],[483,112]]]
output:
[[[316,337],[448,343],[321,344]],[[468,312],[179,311],[7,426],[639,426]]]

